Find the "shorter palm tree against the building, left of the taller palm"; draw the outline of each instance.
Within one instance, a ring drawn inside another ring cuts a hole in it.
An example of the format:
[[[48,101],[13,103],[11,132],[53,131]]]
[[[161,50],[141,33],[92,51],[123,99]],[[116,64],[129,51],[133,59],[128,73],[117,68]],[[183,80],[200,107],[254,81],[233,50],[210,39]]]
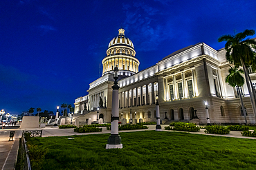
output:
[[[246,111],[244,109],[244,103],[243,103],[243,99],[241,98],[241,91],[240,88],[242,85],[244,85],[244,77],[241,76],[241,74],[244,73],[243,70],[239,69],[239,66],[235,66],[235,67],[231,67],[230,66],[230,70],[228,70],[228,76],[226,76],[225,81],[226,83],[228,83],[228,85],[231,85],[232,87],[238,87],[237,88],[237,92],[238,95],[240,97],[240,101],[241,101],[241,108],[243,110],[244,113],[244,119],[246,120],[246,125],[247,125],[247,119],[246,119]]]

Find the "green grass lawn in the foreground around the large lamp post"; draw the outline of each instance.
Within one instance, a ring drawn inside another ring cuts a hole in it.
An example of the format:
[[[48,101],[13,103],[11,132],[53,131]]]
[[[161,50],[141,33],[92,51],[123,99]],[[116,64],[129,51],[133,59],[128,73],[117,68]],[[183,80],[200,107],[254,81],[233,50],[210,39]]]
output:
[[[32,138],[31,142],[48,148],[42,169],[256,169],[253,139],[173,131],[120,136],[123,149],[105,149],[109,134]]]

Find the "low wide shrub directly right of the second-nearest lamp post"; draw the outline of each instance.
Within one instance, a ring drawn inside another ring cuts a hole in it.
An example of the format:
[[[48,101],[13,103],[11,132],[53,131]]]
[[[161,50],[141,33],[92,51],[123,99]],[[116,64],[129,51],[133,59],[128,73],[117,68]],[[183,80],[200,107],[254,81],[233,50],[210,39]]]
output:
[[[176,131],[200,131],[199,127],[196,127],[194,123],[171,123],[170,126],[174,127],[165,127],[165,130],[176,130]]]

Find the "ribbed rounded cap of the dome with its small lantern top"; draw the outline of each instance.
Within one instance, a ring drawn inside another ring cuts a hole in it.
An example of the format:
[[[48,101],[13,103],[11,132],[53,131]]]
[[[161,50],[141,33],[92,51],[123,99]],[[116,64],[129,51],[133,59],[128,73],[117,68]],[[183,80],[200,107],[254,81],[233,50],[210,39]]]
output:
[[[120,28],[118,32],[118,36],[110,41],[109,47],[111,47],[112,45],[129,45],[130,47],[134,48],[134,44],[131,42],[130,39],[125,36],[125,30],[123,28]]]

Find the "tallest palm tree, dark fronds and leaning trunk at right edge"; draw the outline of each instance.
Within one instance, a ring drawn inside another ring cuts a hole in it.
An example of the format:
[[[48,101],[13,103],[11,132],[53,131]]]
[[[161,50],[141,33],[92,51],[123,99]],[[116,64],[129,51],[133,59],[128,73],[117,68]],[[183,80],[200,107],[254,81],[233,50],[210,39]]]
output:
[[[256,50],[256,41],[253,39],[246,39],[246,36],[252,36],[255,34],[255,30],[244,30],[244,32],[239,32],[238,34],[233,35],[223,35],[219,37],[218,41],[227,41],[225,45],[226,50],[226,59],[229,63],[234,65],[242,65],[246,85],[248,87],[248,92],[250,94],[250,103],[253,107],[253,114],[256,118],[256,107],[255,107],[255,98],[253,94],[253,87],[249,83],[249,75],[246,70],[246,65],[255,66],[255,50]]]

